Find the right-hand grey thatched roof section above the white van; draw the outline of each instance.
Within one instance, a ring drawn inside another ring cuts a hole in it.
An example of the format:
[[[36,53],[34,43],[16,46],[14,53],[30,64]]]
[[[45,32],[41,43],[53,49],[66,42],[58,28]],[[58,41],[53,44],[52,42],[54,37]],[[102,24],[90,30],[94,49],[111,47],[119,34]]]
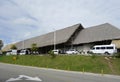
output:
[[[91,43],[96,41],[120,39],[120,30],[115,26],[105,23],[83,29],[73,44]]]

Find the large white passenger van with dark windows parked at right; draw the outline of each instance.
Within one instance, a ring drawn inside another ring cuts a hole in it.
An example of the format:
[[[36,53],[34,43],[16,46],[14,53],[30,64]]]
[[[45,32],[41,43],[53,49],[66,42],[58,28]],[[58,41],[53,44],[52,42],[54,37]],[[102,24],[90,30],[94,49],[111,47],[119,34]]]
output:
[[[115,47],[115,44],[110,44],[110,45],[96,45],[93,46],[93,48],[90,50],[92,53],[96,54],[114,54],[117,53],[117,49]]]

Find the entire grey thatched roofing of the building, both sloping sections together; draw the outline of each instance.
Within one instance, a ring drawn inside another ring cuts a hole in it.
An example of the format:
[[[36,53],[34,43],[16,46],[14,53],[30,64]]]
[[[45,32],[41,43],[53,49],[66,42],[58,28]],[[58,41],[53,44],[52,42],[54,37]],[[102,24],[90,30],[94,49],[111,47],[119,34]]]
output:
[[[72,41],[73,45],[91,43],[96,41],[120,39],[120,30],[108,23],[85,28],[85,29],[82,27],[81,24],[76,24],[61,30],[57,30],[55,31],[55,34],[56,34],[56,42],[55,42],[56,44],[67,43],[71,40],[71,37],[74,37],[74,41]],[[36,43],[38,47],[53,45],[54,32],[50,32],[41,36],[20,41],[15,43],[15,45],[18,49],[23,49],[23,48],[31,48],[31,45],[33,43]],[[8,51],[9,48],[10,45],[7,45],[3,49],[5,51]]]

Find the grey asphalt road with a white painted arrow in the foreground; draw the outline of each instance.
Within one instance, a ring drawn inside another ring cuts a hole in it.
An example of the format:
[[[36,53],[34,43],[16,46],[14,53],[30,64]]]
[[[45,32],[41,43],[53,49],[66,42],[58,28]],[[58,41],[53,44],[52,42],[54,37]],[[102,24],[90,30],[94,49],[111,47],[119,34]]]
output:
[[[0,63],[0,82],[120,82],[120,76]]]

